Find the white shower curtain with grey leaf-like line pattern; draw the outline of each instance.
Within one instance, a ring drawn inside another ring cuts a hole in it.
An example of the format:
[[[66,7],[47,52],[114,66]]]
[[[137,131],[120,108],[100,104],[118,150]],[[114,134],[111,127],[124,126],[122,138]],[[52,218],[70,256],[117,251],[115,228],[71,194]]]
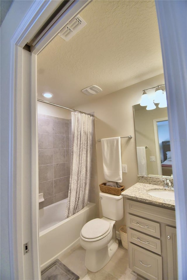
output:
[[[93,117],[72,112],[72,154],[70,188],[65,218],[77,213],[88,202],[91,178],[91,146]]]

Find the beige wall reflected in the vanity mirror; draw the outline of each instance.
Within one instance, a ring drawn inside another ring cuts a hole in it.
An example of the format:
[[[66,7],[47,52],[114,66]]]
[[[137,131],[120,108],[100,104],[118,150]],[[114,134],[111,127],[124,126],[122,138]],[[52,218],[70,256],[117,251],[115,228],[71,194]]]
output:
[[[149,111],[146,107],[141,108],[135,111],[136,145],[137,147],[148,146],[146,149],[147,174],[158,175],[153,120],[166,118],[167,108],[157,107]],[[150,156],[155,157],[155,162],[150,162]]]

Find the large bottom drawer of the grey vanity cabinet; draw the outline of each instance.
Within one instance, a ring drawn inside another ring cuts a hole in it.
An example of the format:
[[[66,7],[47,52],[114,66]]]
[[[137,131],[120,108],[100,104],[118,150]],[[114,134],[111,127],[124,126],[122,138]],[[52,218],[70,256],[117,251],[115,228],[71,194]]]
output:
[[[162,257],[129,243],[129,267],[149,280],[162,280]]]

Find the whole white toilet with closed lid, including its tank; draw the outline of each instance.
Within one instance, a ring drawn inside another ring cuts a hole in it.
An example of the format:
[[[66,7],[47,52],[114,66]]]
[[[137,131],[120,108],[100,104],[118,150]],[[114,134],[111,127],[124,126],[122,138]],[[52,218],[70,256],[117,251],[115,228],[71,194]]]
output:
[[[85,266],[92,272],[104,267],[118,248],[115,221],[123,218],[123,197],[100,192],[103,218],[86,223],[80,232],[80,244],[86,250]]]

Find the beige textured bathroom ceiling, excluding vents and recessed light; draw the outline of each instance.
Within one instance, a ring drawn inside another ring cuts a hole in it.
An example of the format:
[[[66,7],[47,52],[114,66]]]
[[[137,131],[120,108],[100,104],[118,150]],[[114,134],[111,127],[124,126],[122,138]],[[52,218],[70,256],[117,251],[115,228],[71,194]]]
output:
[[[86,22],[69,41],[56,36],[37,57],[37,92],[67,107],[92,102],[163,73],[154,1],[92,1],[80,14]],[[103,92],[81,90],[98,85]]]

